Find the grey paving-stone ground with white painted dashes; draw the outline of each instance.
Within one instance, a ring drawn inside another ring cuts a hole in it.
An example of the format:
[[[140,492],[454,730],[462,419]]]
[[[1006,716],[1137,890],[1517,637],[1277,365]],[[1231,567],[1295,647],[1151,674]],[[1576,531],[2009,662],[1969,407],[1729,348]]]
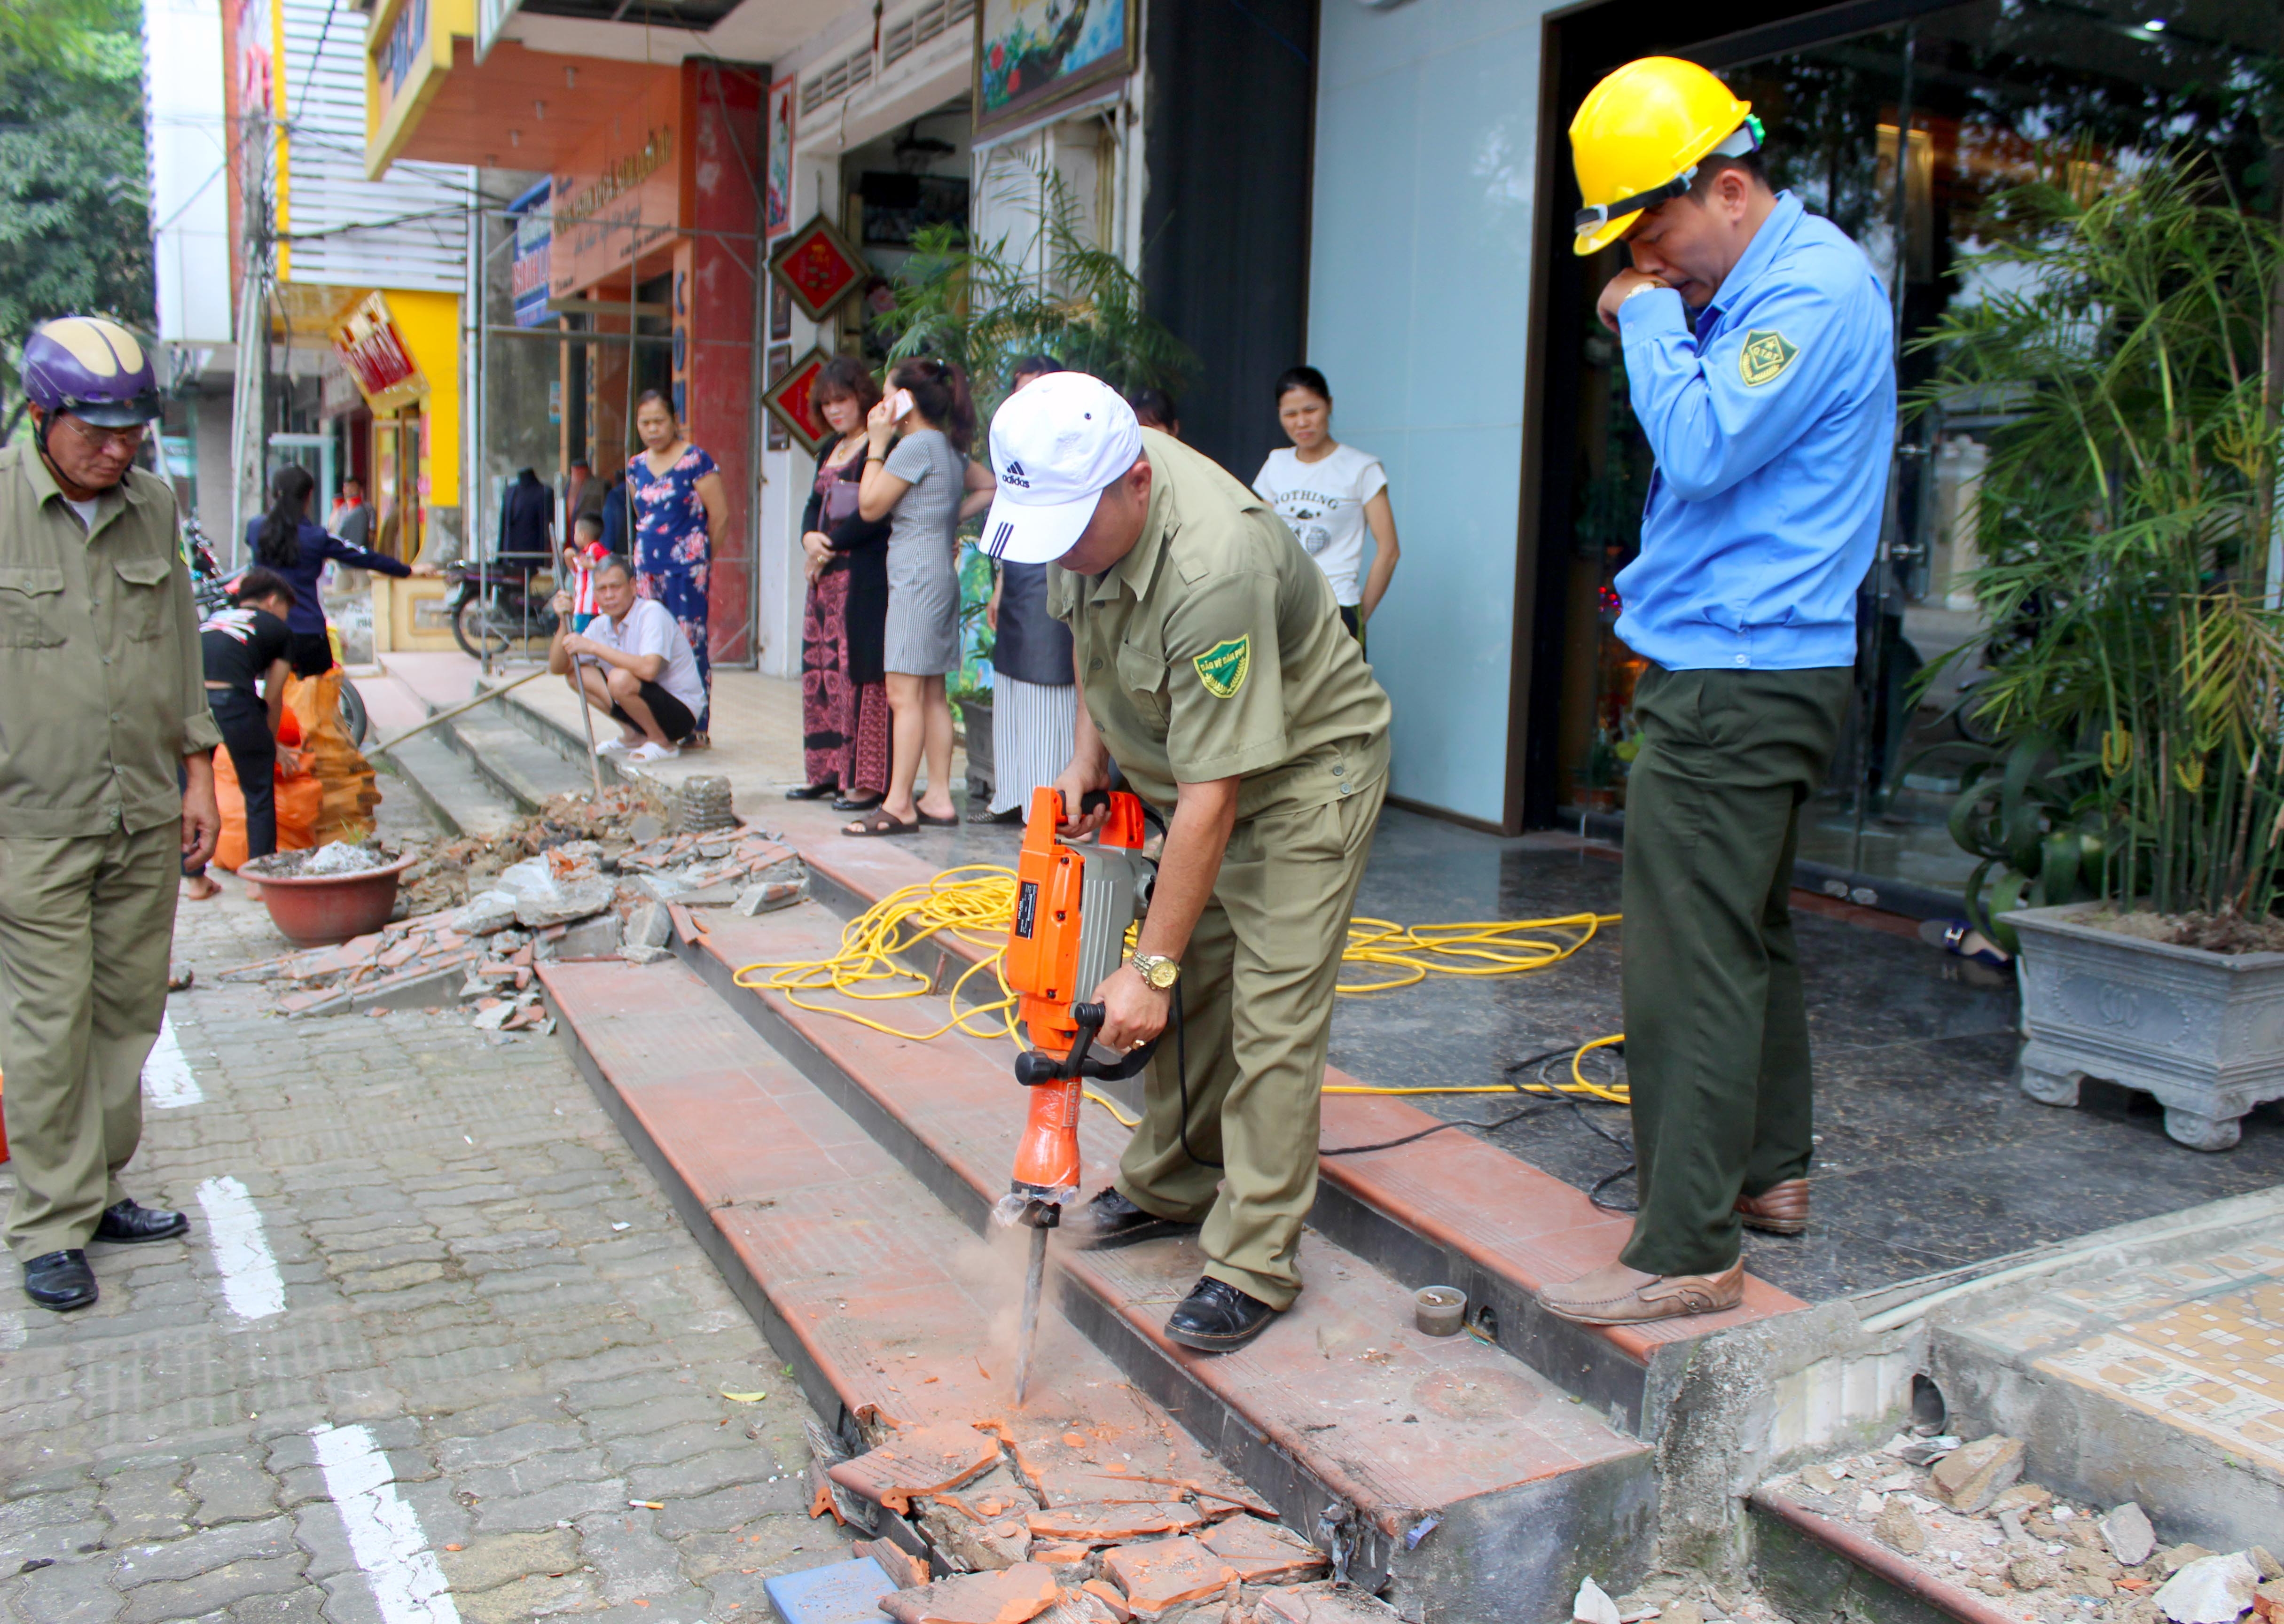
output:
[[[560,1042],[212,980],[279,946],[235,886],[183,907],[203,1099],[128,1185],[190,1240],[96,1247],[69,1318],[0,1265],[0,1615],[731,1624],[845,1558],[806,1407]]]

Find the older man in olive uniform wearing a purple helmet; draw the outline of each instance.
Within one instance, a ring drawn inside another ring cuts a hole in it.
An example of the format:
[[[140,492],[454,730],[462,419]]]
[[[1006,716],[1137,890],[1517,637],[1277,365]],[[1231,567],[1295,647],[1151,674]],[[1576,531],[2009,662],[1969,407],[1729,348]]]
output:
[[[7,1243],[43,1309],[96,1300],[89,1240],[169,1240],[119,1188],[167,1012],[180,861],[215,852],[199,619],[174,491],[132,466],[158,386],[123,327],[23,352],[30,445],[0,450],[0,1071]],[[187,790],[183,783],[187,781]]]

